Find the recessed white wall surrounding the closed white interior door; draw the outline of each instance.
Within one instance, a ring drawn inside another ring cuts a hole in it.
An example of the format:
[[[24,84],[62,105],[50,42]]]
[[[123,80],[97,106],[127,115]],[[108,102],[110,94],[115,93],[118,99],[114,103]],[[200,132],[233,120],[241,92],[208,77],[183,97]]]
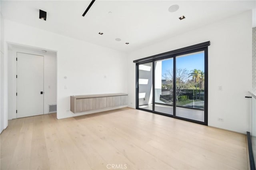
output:
[[[44,56],[44,114],[48,113],[48,104],[57,103],[57,54],[56,52],[48,51],[46,53],[22,47],[8,48],[8,120],[16,119],[16,89],[17,89],[17,67],[16,53],[30,53],[34,55]],[[50,88],[49,88],[50,86]]]

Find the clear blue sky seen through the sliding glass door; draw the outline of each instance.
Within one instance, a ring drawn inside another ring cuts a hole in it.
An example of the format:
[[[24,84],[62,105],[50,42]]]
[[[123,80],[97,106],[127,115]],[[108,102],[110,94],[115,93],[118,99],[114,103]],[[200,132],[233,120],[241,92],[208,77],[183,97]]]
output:
[[[188,54],[186,56],[176,57],[176,69],[187,69],[189,72],[194,69],[204,71],[204,52]],[[173,69],[173,59],[162,61],[162,75],[166,70]]]

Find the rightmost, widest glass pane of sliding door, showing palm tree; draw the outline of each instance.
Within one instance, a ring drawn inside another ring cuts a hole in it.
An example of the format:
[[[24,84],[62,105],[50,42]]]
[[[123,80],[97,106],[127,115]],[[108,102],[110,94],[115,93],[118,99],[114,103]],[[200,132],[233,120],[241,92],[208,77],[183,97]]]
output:
[[[176,116],[204,122],[204,51],[176,57]]]

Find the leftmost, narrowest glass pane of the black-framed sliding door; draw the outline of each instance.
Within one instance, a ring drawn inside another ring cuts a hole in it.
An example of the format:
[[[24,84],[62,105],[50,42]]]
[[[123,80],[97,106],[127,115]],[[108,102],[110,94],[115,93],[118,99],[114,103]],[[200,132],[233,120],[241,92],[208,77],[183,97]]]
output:
[[[152,110],[152,63],[139,65],[139,108]]]

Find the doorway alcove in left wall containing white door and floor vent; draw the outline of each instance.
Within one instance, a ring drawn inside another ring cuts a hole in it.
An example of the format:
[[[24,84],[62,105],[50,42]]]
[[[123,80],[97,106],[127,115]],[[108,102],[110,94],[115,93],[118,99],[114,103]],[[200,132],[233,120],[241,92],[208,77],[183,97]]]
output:
[[[8,44],[8,94],[8,120],[56,113],[56,51]]]

